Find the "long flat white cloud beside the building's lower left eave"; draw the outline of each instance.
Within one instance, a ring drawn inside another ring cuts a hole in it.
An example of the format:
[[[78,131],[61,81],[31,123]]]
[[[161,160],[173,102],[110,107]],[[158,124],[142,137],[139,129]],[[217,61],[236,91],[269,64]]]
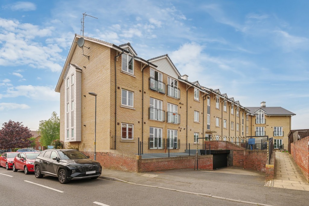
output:
[[[10,98],[19,96],[25,96],[30,99],[44,101],[58,101],[59,99],[59,94],[55,92],[51,86],[14,86],[7,88],[6,94],[2,95],[2,97]]]

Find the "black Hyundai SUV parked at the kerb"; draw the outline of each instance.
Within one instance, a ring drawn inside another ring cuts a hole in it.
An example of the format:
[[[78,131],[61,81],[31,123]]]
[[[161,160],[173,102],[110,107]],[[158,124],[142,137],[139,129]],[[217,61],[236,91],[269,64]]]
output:
[[[34,174],[58,177],[61,184],[71,179],[96,179],[101,175],[99,162],[90,159],[76,149],[46,149],[34,161]]]

